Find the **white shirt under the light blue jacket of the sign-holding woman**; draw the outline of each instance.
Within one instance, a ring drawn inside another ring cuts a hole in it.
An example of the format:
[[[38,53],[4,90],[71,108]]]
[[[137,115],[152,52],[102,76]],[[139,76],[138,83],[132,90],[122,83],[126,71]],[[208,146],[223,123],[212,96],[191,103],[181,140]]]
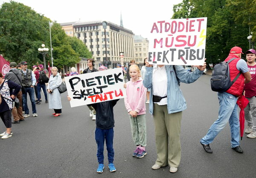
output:
[[[161,97],[167,96],[167,75],[165,66],[161,68],[157,65],[153,66],[152,86],[153,95]],[[167,98],[161,99],[161,101],[157,102],[157,104],[167,105]]]

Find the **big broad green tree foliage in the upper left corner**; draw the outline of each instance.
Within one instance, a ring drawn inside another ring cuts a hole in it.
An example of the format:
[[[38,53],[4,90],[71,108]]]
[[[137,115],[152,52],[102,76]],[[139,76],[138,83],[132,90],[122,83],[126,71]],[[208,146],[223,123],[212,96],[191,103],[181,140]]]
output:
[[[0,54],[9,61],[36,63],[38,48],[49,37],[48,20],[22,3],[0,7]]]

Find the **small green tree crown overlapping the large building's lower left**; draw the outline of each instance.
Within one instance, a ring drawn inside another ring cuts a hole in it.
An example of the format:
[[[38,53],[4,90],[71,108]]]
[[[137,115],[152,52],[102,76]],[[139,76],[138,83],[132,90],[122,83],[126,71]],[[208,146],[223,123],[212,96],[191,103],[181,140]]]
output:
[[[72,49],[75,50],[77,54],[79,54],[79,57],[84,57],[87,59],[92,57],[91,52],[86,48],[81,40],[77,39],[76,37],[68,37],[68,40]]]

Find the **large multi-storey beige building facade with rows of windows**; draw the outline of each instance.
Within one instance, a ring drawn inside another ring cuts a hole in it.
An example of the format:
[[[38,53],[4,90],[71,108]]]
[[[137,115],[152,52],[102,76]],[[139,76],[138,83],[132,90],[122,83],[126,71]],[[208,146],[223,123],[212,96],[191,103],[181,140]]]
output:
[[[83,41],[92,53],[95,61],[106,67],[115,68],[134,59],[134,34],[120,25],[107,21],[73,23],[74,37]]]

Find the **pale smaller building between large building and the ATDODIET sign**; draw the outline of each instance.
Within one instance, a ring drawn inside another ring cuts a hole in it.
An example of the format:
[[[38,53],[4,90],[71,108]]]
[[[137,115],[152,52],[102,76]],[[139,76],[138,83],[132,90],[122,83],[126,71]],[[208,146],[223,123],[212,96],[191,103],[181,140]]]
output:
[[[134,35],[134,59],[136,63],[144,62],[148,57],[148,39],[141,35]]]

